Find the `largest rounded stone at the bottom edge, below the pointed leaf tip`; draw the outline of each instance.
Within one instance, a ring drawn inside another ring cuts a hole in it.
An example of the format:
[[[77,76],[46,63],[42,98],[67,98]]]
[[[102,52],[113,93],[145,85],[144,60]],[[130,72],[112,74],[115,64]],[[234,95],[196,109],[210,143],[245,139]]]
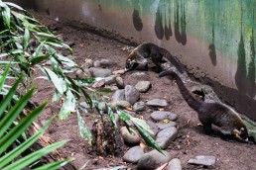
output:
[[[138,162],[138,170],[154,170],[157,169],[162,164],[168,163],[171,160],[170,154],[163,150],[163,153],[160,153],[157,150],[152,150],[148,153],[145,153]]]

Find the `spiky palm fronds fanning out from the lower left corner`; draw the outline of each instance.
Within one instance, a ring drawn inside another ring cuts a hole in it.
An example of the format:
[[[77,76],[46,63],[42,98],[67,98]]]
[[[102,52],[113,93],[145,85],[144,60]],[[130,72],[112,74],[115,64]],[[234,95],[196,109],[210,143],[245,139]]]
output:
[[[4,70],[0,78],[0,91],[4,86],[10,64]],[[37,160],[42,158],[44,155],[50,153],[51,151],[64,145],[66,141],[56,142],[45,148],[37,150],[29,155],[21,157],[21,154],[28,149],[37,139],[43,134],[43,132],[50,126],[54,118],[52,118],[44,127],[42,127],[37,133],[31,136],[25,141],[20,141],[19,137],[25,132],[25,130],[32,125],[33,121],[39,116],[39,114],[44,110],[47,102],[43,103],[35,110],[31,111],[23,119],[19,120],[19,123],[14,124],[15,121],[20,118],[22,110],[26,107],[29,100],[32,98],[35,91],[35,87],[32,87],[28,92],[18,99],[14,106],[10,103],[13,100],[19,84],[21,83],[24,74],[21,74],[16,82],[13,84],[12,88],[2,99],[0,103],[0,169],[12,170],[12,169],[23,169],[29,167]],[[16,147],[12,147],[13,143],[19,143]],[[11,149],[10,149],[11,148]],[[7,151],[8,150],[8,151]],[[58,162],[50,163],[37,167],[36,169],[59,169],[65,163],[71,161],[71,159],[65,159]]]

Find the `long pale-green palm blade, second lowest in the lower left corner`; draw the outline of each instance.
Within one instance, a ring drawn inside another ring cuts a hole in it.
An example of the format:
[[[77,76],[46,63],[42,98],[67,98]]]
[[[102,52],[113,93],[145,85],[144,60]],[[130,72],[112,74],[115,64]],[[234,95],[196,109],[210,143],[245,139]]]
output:
[[[40,159],[42,156],[50,153],[51,151],[53,151],[59,147],[62,147],[65,143],[66,143],[66,140],[51,144],[47,147],[44,147],[40,150],[37,150],[37,151],[29,154],[28,156],[25,156],[25,157],[19,159],[16,162],[13,162],[12,164],[3,168],[2,170],[23,169],[23,168],[27,167],[28,165],[30,165],[31,163]]]

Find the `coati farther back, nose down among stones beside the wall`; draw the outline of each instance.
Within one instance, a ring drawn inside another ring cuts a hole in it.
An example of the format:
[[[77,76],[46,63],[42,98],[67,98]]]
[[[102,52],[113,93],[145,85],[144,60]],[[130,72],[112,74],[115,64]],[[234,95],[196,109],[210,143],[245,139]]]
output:
[[[146,63],[146,69],[148,69],[146,58],[151,58],[159,70],[161,70],[161,63],[165,62],[164,59],[166,58],[180,73],[183,74],[185,72],[179,61],[167,49],[151,42],[142,43],[132,50],[126,59],[125,70],[128,71],[134,69],[140,63]]]

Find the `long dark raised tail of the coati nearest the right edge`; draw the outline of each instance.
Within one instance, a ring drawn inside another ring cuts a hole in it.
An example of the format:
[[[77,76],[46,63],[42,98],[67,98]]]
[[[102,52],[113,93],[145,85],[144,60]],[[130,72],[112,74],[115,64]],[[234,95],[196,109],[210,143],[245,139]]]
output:
[[[174,71],[165,70],[165,71],[162,71],[161,73],[159,73],[159,77],[164,77],[164,76],[167,76],[167,75],[172,76],[176,80],[177,85],[178,85],[178,87],[180,89],[180,92],[183,95],[183,97],[186,100],[186,102],[190,105],[190,107],[194,111],[198,111],[198,109],[200,108],[201,104],[203,104],[203,102],[200,102],[200,101],[196,100],[192,96],[192,94],[189,92],[189,90],[185,86],[183,80]]]

